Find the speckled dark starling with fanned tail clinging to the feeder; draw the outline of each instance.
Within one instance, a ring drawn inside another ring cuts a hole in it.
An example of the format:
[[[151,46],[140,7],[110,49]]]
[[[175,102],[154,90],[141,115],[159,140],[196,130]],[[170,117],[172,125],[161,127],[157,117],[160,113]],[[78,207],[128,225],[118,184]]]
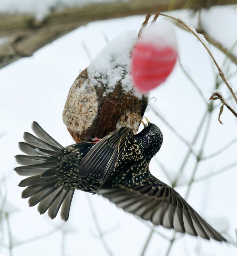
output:
[[[122,127],[97,143],[67,147],[38,123],[33,122],[32,129],[37,137],[24,133],[25,142],[20,142],[19,147],[26,155],[16,156],[23,166],[14,170],[29,176],[19,183],[27,187],[22,197],[30,197],[29,206],[39,203],[40,214],[48,210],[53,219],[61,207],[61,218],[66,221],[74,190],[79,189],[102,195],[154,225],[227,242],[174,189],[151,175],[150,160],[163,142],[155,124],[148,122],[136,135]]]

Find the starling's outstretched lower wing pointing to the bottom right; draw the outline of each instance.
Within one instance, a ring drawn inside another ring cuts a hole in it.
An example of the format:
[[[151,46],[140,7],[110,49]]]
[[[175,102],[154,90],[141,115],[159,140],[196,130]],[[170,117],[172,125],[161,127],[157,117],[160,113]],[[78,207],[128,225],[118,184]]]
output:
[[[98,194],[126,212],[133,213],[155,225],[178,232],[187,232],[205,239],[227,241],[214,230],[174,189],[153,176],[129,187],[103,187]]]

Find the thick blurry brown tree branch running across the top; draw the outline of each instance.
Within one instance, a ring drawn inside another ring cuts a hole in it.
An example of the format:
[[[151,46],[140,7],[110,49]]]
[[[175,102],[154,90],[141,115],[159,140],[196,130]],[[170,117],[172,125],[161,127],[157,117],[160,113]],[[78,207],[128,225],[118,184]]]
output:
[[[198,10],[210,7],[210,1],[130,0],[94,3],[83,7],[52,11],[43,21],[29,14],[0,14],[0,37],[9,37],[0,44],[0,68],[33,53],[53,40],[91,21],[132,15],[158,13],[183,8]],[[211,5],[235,4],[235,0],[213,0]]]

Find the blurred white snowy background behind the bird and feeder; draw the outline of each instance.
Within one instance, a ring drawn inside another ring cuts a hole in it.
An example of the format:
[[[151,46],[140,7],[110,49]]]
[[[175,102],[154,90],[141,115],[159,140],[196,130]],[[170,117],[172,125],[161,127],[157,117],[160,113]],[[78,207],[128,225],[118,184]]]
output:
[[[197,14],[187,11],[170,14],[193,26],[197,25]],[[33,120],[60,144],[67,146],[73,143],[62,121],[62,111],[71,84],[80,70],[90,64],[90,59],[94,59],[106,46],[107,40],[111,41],[125,30],[138,31],[143,20],[144,16],[133,16],[89,23],[43,47],[33,57],[20,59],[0,70],[2,255],[167,254],[170,246],[168,239],[173,237],[172,230],[156,227],[151,234],[150,223],[124,213],[100,196],[86,195],[80,191],[75,193],[67,223],[63,223],[59,216],[54,220],[50,220],[47,215],[40,216],[37,207],[28,207],[27,200],[20,198],[22,188],[17,187],[17,184],[21,177],[13,171],[17,165],[14,155],[20,153],[17,142],[23,140],[23,132],[30,132]],[[226,47],[230,48],[237,40],[236,7],[213,7],[202,12],[201,21],[208,33]],[[150,100],[150,108],[157,113],[150,109],[145,116],[160,127],[164,136],[161,150],[153,159],[150,170],[156,177],[171,184],[185,163],[176,186],[182,196],[186,195],[187,184],[196,170],[194,180],[197,181],[191,186],[188,203],[217,230],[236,241],[236,118],[224,108],[221,125],[217,120],[220,107],[217,101],[214,106],[219,107],[210,115],[206,113],[206,102],[221,79],[196,37],[173,27],[181,64],[203,95],[198,93],[179,63],[167,81],[150,93],[150,98],[156,98]],[[224,67],[236,92],[236,65],[225,61],[226,56],[210,44],[208,47]],[[237,47],[233,53],[237,55]],[[230,93],[223,83],[219,90],[228,99]],[[229,100],[229,104],[234,106],[234,101]],[[200,133],[197,140],[188,146],[193,142],[198,126]],[[229,143],[231,145],[222,150]],[[195,154],[203,149],[202,156],[207,159],[196,164],[197,158],[191,153],[184,162],[190,148]],[[218,154],[208,157],[215,152]],[[215,175],[219,171],[220,174]],[[145,247],[149,237],[151,239]],[[169,255],[237,255],[235,247],[213,240],[180,234],[176,235],[176,239]]]

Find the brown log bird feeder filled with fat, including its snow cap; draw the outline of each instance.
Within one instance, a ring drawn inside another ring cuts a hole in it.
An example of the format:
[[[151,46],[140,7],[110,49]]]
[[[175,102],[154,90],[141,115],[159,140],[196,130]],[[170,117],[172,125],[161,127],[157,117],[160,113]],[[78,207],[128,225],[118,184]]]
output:
[[[71,86],[63,122],[76,142],[102,138],[122,126],[137,132],[148,98],[131,82],[130,54],[136,40],[137,31],[115,37]]]

